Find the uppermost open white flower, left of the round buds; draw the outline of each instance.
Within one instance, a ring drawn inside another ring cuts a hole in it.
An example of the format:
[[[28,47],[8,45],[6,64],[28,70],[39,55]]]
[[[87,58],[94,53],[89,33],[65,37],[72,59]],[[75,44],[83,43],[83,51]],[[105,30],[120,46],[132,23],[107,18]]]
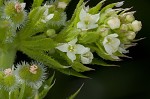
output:
[[[87,7],[85,9],[82,8],[79,15],[80,21],[77,23],[77,28],[81,30],[89,30],[98,27],[97,22],[100,18],[100,13],[92,15],[87,13],[87,11]]]

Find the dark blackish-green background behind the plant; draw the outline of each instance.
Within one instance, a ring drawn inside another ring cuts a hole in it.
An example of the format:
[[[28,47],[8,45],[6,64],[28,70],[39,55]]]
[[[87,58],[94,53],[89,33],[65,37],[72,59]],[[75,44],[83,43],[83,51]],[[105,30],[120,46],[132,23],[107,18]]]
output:
[[[91,0],[88,4],[95,5],[100,0]],[[119,0],[107,0],[106,4]],[[67,13],[71,17],[78,0],[72,0]],[[142,30],[137,38],[146,37],[138,45],[130,48],[129,56],[122,62],[114,62],[120,67],[93,66],[96,71],[85,75],[92,79],[81,79],[56,72],[56,83],[45,99],[66,99],[83,83],[84,86],[76,99],[150,99],[150,1],[125,0],[123,8],[132,7],[136,10],[135,17],[141,20]]]

